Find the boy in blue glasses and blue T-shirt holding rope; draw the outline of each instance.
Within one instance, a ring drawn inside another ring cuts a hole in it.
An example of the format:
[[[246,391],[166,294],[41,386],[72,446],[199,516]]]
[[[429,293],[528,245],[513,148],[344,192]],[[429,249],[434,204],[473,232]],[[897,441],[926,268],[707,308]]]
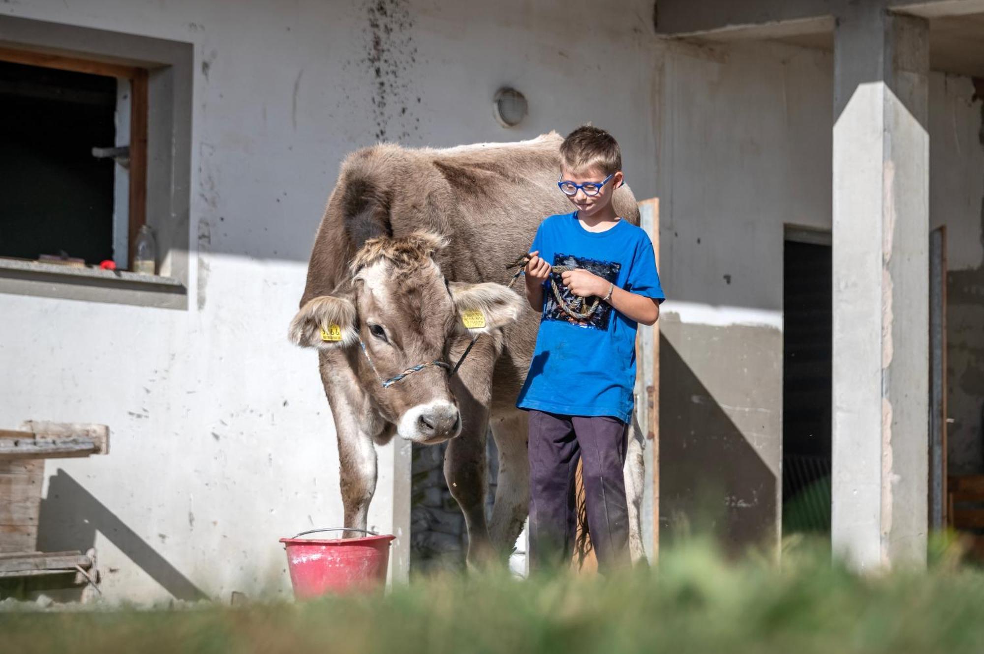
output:
[[[605,572],[629,562],[622,468],[636,327],[656,321],[664,296],[646,232],[612,206],[623,181],[615,138],[580,127],[560,153],[558,186],[577,210],[540,224],[525,267],[526,300],[542,312],[517,401],[529,411],[530,565],[570,561],[580,458],[588,529]]]

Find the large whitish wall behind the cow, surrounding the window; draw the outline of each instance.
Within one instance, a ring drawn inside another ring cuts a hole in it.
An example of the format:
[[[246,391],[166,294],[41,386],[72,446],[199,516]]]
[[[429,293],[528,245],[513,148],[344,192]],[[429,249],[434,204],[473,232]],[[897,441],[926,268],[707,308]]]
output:
[[[341,521],[315,356],[289,347],[338,162],[377,138],[514,140],[584,121],[655,193],[651,3],[11,2],[7,14],[192,44],[186,310],[0,296],[0,421],[110,425],[48,462],[39,546],[95,545],[110,598],[283,592],[277,538]],[[584,17],[591,39],[579,43]],[[515,130],[491,98],[529,100]],[[370,525],[389,530],[392,448]]]

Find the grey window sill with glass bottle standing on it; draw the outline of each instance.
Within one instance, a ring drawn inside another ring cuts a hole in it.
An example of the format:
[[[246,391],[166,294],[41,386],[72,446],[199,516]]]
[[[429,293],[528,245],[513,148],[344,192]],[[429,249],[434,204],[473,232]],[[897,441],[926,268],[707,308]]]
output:
[[[23,259],[0,258],[0,293],[160,308],[188,307],[188,290],[171,277]]]

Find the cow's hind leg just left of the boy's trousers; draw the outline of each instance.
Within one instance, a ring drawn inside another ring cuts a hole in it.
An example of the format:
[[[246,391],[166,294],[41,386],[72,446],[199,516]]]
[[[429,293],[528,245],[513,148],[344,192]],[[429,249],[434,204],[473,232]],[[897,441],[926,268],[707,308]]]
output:
[[[523,530],[529,513],[529,423],[525,411],[511,411],[492,421],[492,436],[499,450],[499,480],[489,533],[496,551],[508,555]]]

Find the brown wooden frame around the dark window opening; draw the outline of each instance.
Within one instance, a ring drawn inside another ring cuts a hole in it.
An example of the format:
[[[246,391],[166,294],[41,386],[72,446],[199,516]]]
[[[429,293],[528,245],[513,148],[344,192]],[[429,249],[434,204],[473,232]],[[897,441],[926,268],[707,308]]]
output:
[[[129,222],[127,268],[132,269],[137,234],[140,232],[140,228],[147,223],[148,70],[137,66],[7,47],[0,47],[0,61],[130,81],[130,193],[127,209]]]

